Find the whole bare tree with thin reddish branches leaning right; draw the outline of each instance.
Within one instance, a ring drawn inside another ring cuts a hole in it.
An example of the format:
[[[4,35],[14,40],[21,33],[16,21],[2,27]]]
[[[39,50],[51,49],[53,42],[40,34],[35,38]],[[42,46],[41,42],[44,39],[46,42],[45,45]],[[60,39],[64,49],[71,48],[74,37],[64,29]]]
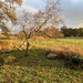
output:
[[[29,55],[29,39],[34,35],[35,32],[44,27],[56,25],[61,20],[60,0],[46,0],[46,6],[43,10],[39,10],[32,14],[23,11],[22,19],[19,20],[21,29],[25,34],[27,53]],[[21,44],[23,45],[24,42]]]

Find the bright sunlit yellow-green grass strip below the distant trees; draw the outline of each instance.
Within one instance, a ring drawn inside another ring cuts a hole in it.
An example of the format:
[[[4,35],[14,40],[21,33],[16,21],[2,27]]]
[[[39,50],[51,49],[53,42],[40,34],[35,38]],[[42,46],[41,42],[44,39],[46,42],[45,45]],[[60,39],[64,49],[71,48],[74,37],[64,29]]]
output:
[[[83,48],[83,39],[56,39],[56,40],[35,40],[30,41],[32,45],[42,45],[42,46],[64,46],[64,45],[75,45]]]

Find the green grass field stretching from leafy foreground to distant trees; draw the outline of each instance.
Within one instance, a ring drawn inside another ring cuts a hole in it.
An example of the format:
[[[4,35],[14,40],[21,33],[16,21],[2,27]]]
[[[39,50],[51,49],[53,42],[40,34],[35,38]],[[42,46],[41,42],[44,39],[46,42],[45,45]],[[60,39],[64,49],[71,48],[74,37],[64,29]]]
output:
[[[10,40],[10,43],[22,42]],[[71,70],[63,60],[46,59],[44,49],[63,46],[74,51],[81,48],[79,52],[83,52],[83,39],[30,40],[28,58],[23,56],[25,51],[0,53],[6,61],[0,68],[0,83],[83,83],[82,69]]]

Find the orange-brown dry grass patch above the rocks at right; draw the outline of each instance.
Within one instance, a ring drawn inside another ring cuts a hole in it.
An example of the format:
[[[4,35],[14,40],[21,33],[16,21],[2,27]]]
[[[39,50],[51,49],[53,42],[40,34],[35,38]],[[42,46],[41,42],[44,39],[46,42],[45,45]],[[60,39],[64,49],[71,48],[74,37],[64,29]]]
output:
[[[77,46],[68,46],[68,45],[65,45],[65,46],[49,46],[49,48],[45,48],[45,50],[48,52],[55,53],[61,58],[65,58],[65,56],[68,58],[68,56],[72,56],[74,54],[83,56],[83,49],[77,48]]]

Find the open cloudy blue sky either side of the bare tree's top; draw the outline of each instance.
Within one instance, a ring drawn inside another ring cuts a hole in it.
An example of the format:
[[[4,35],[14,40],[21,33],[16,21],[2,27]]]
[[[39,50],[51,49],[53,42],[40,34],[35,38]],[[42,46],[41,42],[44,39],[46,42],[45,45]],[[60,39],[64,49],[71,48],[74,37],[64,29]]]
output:
[[[23,0],[22,8],[34,13],[43,9],[45,0]],[[83,0],[61,0],[62,19],[69,28],[83,27]]]

